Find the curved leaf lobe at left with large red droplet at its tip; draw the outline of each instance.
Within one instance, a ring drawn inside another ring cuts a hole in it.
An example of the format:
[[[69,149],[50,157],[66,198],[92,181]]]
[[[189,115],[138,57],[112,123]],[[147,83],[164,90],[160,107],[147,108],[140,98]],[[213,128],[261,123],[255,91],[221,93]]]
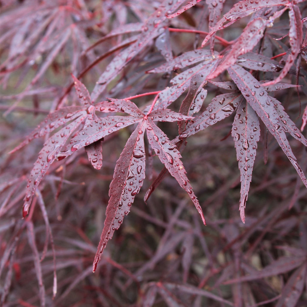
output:
[[[80,125],[83,119],[84,116],[79,117],[77,120],[62,128],[56,134],[52,135],[45,143],[43,149],[39,152],[38,159],[34,163],[26,188],[26,194],[24,199],[25,203],[22,209],[23,217],[25,217],[29,212],[29,207],[35,189],[47,173],[52,162],[60,153],[62,146],[64,146],[72,132]]]

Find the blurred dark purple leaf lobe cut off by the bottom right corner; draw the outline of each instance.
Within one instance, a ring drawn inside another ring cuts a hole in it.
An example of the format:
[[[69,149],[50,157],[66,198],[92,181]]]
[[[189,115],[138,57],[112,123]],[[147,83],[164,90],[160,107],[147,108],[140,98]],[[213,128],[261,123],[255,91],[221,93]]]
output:
[[[304,290],[306,278],[306,264],[299,267],[289,278],[282,289],[282,295],[275,307],[295,307]]]

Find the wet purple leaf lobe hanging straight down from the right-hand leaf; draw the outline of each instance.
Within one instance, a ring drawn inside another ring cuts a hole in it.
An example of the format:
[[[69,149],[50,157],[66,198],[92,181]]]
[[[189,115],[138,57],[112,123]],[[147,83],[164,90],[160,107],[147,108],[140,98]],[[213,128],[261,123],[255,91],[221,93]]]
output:
[[[235,141],[235,149],[241,174],[241,196],[239,208],[243,223],[245,223],[244,209],[251,184],[257,142],[260,137],[260,126],[257,115],[245,100],[244,102],[242,102],[237,108],[237,114],[232,124],[231,131],[231,135]]]

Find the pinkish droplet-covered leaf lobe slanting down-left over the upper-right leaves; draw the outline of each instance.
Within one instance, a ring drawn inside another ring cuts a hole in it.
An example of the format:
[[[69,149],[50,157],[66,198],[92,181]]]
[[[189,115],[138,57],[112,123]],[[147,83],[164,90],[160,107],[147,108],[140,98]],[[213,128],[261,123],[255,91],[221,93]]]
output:
[[[235,64],[237,57],[254,49],[258,41],[263,36],[266,28],[267,20],[256,18],[250,21],[244,28],[241,36],[231,46],[230,51],[223,57],[216,70],[207,77],[207,79],[216,78],[221,72],[227,69],[232,64]]]

